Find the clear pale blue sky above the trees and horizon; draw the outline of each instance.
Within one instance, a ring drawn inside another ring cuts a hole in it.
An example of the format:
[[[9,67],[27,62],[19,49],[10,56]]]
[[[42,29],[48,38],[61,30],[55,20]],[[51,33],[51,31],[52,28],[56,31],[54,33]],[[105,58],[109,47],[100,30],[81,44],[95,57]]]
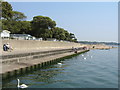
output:
[[[80,41],[118,41],[117,2],[10,2],[27,20],[48,16]]]

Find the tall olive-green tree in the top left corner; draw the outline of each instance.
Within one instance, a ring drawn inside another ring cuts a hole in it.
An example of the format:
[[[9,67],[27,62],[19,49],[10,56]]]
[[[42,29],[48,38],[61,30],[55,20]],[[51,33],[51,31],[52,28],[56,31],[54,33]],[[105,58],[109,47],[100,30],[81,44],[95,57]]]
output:
[[[2,2],[2,17],[10,20],[12,18],[12,6],[8,2]]]

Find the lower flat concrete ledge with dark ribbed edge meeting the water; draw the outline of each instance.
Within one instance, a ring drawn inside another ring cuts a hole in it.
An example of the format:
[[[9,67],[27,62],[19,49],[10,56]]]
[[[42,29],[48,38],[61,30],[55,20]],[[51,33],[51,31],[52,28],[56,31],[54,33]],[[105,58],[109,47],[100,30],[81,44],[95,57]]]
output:
[[[88,52],[89,50],[78,50],[78,53],[71,52],[70,50],[61,53],[53,53],[46,55],[45,57],[38,57],[30,60],[21,60],[10,64],[2,64],[2,79],[9,79],[11,77],[23,75],[28,72],[32,72],[36,69],[40,69],[44,66],[57,63],[65,58],[70,58],[81,53]]]

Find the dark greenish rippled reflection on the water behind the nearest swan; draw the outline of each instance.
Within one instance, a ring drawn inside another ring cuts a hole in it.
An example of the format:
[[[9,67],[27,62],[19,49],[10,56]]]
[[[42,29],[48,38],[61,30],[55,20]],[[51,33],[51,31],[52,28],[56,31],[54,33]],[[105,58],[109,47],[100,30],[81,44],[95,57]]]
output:
[[[56,75],[65,73],[64,68],[68,65],[64,64],[64,61],[61,61],[62,65],[50,65],[47,67],[44,67],[42,69],[39,69],[37,71],[34,71],[32,73],[29,73],[27,76],[20,76],[12,79],[9,79],[7,81],[3,82],[3,88],[4,87],[16,87],[17,85],[17,78],[21,80],[21,83],[26,83],[27,85],[47,85],[49,83],[56,83],[56,82],[64,82],[66,80],[55,80]],[[12,83],[9,83],[12,82]]]

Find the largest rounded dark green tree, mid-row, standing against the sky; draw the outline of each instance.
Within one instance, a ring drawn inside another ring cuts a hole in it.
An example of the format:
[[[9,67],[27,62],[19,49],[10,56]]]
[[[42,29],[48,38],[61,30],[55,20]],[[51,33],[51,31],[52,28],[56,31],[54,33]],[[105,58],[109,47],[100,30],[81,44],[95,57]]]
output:
[[[31,21],[31,34],[36,37],[42,37],[43,39],[46,39],[50,36],[47,34],[49,30],[54,28],[55,26],[56,22],[53,21],[51,18],[45,16],[35,16]]]

